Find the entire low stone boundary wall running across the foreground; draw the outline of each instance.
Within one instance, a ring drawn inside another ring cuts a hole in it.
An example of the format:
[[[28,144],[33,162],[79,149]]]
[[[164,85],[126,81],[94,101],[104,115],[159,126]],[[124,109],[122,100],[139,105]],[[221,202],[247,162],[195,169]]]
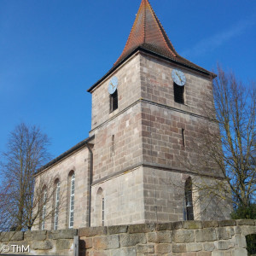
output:
[[[183,221],[2,233],[0,248],[29,245],[24,254],[77,255],[79,238],[80,256],[244,256],[250,234],[256,220]]]

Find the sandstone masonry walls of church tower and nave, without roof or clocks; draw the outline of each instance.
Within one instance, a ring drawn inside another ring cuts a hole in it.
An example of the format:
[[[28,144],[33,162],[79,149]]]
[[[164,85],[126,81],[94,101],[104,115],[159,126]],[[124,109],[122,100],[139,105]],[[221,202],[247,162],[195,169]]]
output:
[[[212,81],[184,69],[188,77],[186,102],[178,104],[173,100],[173,68],[173,64],[157,57],[140,52],[133,55],[113,74],[119,78],[119,108],[112,113],[108,94],[112,76],[92,91],[93,162],[88,148],[83,146],[36,177],[43,180],[45,176],[51,177],[51,183],[59,178],[61,182],[63,200],[58,229],[68,228],[70,172],[76,175],[74,228],[88,226],[89,214],[91,226],[102,225],[96,217],[102,211],[96,207],[99,189],[105,202],[105,225],[169,222],[184,220],[186,178],[201,180],[201,175],[210,181],[222,178],[213,165],[203,173],[191,172],[183,166],[183,157],[189,157],[187,147],[201,137],[202,123],[209,122],[201,113],[201,105],[212,97]],[[220,207],[209,201],[206,205],[204,209],[195,204],[195,219],[230,217],[227,203]],[[54,199],[48,203],[49,211],[53,207]],[[45,229],[53,229],[53,218],[46,220]]]

